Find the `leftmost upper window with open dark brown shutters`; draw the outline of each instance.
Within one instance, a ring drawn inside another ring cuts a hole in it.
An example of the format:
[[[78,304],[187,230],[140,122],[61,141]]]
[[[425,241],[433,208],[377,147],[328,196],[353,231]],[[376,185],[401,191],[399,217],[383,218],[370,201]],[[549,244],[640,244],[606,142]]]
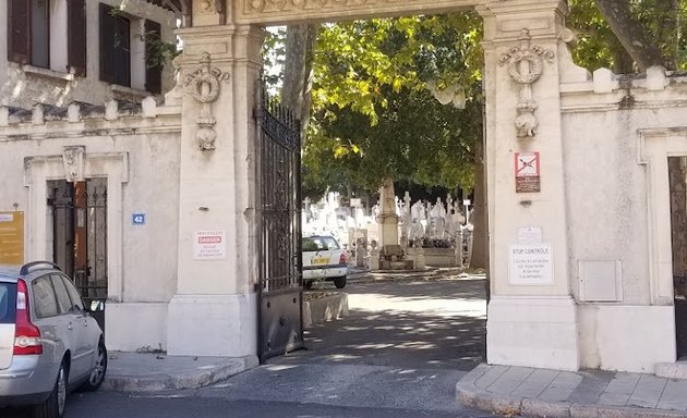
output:
[[[86,0],[8,0],[8,60],[86,74]]]

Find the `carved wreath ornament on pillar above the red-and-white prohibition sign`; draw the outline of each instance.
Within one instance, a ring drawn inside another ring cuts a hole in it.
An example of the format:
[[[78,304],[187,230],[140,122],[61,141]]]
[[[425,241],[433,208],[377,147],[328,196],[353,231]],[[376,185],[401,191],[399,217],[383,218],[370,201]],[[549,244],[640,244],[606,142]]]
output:
[[[501,56],[498,63],[507,65],[510,78],[522,86],[515,125],[518,138],[531,138],[537,135],[539,126],[539,120],[534,115],[538,104],[532,98],[532,84],[537,83],[544,72],[544,60],[551,62],[555,56],[549,49],[530,46],[532,37],[528,29],[522,29],[519,39],[520,46],[513,47]]]

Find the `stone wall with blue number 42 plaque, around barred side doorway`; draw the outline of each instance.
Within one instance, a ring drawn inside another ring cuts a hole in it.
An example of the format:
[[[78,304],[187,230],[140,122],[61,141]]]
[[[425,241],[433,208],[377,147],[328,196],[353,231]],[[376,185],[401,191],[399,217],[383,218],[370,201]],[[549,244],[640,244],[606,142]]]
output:
[[[110,349],[167,344],[167,305],[177,291],[180,112],[152,98],[142,106],[0,108],[0,211],[25,213],[26,261],[52,260],[47,182],[74,173],[107,179]],[[83,163],[67,162],[74,149]],[[132,223],[134,212],[146,214],[144,225]]]

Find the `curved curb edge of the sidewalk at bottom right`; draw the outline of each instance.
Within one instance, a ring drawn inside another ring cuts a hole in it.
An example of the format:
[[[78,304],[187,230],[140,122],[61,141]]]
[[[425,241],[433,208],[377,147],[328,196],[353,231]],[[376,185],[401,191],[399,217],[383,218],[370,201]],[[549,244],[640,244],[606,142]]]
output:
[[[678,410],[628,406],[582,405],[520,398],[485,391],[475,385],[489,366],[482,364],[456,384],[456,398],[466,406],[493,414],[546,418],[685,418]]]

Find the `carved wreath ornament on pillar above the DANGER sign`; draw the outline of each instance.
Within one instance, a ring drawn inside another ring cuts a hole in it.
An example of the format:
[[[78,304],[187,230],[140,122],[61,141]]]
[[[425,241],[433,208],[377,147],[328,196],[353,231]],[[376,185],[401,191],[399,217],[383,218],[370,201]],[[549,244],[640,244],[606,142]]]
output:
[[[212,103],[217,100],[222,82],[229,79],[229,73],[222,73],[218,69],[210,67],[210,54],[203,52],[201,56],[201,67],[184,77],[184,86],[193,96],[195,101],[203,104],[201,114],[196,121],[198,131],[195,138],[202,150],[215,149],[215,124],[217,121],[213,115]]]

